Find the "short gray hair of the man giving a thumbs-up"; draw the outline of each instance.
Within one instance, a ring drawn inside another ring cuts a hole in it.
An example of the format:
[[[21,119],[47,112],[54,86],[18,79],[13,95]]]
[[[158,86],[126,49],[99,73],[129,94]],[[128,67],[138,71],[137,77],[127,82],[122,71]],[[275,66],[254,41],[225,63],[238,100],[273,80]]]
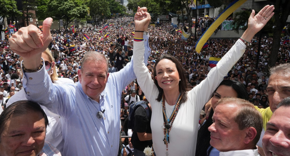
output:
[[[106,59],[106,57],[99,53],[99,52],[96,52],[96,51],[89,51],[89,52],[86,52],[84,58],[82,59],[82,62],[81,62],[81,70],[84,69],[84,65],[86,62],[88,61],[94,61],[94,62],[98,62],[98,63],[106,63],[107,65],[107,71],[106,71],[106,74],[108,74],[108,71],[109,71],[109,66],[108,66],[108,59]]]

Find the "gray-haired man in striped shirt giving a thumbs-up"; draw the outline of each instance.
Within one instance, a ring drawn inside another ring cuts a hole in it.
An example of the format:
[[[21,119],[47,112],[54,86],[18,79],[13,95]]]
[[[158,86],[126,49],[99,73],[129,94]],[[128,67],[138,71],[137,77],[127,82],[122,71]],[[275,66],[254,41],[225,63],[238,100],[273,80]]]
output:
[[[104,55],[87,52],[77,73],[79,82],[52,84],[41,60],[41,52],[51,41],[51,22],[52,18],[44,20],[42,33],[29,25],[19,29],[22,33],[15,33],[9,40],[10,48],[23,58],[26,97],[62,117],[63,155],[117,155],[120,97],[126,85],[136,79],[133,61],[119,72],[108,73]],[[142,42],[147,47],[144,62],[147,62],[151,50],[148,36],[143,37]]]

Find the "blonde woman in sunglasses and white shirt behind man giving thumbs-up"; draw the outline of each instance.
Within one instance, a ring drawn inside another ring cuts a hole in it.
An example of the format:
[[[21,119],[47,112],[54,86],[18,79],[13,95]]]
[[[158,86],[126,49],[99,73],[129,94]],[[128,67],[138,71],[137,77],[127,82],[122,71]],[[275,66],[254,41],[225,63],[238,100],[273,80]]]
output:
[[[65,83],[74,84],[73,80],[70,80],[69,78],[58,78],[56,68],[55,68],[54,58],[52,57],[52,54],[49,52],[48,48],[44,52],[42,52],[41,57],[44,59],[45,69],[47,73],[50,75],[50,79],[53,83],[60,84],[60,85],[65,84]],[[19,92],[17,92],[17,94],[13,95],[8,100],[8,103],[6,104],[6,106],[8,107],[13,102],[16,102],[19,100],[27,100],[24,89],[21,89]],[[43,108],[49,121],[48,122],[49,125],[47,126],[47,129],[46,129],[45,140],[50,142],[53,146],[55,146],[62,153],[64,140],[62,138],[62,133],[61,133],[60,116],[50,112],[45,106],[41,106],[41,108]]]

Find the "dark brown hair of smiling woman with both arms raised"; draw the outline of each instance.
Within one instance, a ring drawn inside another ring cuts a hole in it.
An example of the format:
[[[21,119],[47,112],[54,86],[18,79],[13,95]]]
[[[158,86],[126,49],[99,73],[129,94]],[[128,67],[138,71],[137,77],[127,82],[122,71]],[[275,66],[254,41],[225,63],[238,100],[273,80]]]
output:
[[[156,66],[159,63],[159,61],[161,61],[162,59],[168,59],[170,61],[172,61],[173,63],[175,63],[176,68],[177,68],[177,72],[179,74],[179,78],[181,79],[179,82],[179,91],[182,95],[182,99],[180,100],[180,103],[186,102],[187,100],[187,92],[190,90],[187,86],[187,80],[186,80],[186,76],[185,76],[185,70],[183,69],[180,61],[178,61],[175,57],[171,56],[171,55],[162,55],[160,57],[160,59],[158,59],[155,63],[154,66],[154,83],[158,88],[159,94],[158,97],[156,98],[156,100],[158,102],[160,102],[162,100],[162,95],[163,95],[163,89],[158,85],[158,81],[155,79],[156,74]]]

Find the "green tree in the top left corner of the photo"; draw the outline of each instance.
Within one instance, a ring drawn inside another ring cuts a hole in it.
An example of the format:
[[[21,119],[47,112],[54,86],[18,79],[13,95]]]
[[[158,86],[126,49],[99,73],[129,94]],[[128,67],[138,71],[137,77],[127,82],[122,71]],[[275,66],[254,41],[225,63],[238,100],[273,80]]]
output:
[[[0,0],[0,32],[2,33],[4,18],[19,17],[22,13],[17,10],[16,1],[14,0]]]

